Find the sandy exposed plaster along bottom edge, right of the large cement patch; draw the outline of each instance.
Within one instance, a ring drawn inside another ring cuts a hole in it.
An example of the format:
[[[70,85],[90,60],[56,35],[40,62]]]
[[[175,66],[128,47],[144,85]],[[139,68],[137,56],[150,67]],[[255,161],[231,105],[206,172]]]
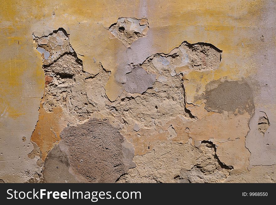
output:
[[[233,169],[216,156],[215,145],[203,141],[191,144],[156,142],[151,152],[134,157],[139,166],[121,176],[118,183],[224,182]]]

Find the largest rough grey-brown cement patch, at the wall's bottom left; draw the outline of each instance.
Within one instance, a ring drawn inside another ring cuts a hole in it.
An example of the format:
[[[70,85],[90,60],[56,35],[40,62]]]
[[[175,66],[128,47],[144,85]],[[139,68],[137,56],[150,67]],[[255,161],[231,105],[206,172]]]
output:
[[[47,182],[75,182],[76,178],[80,182],[112,183],[136,166],[133,146],[108,120],[93,118],[66,127],[61,138],[45,160]]]

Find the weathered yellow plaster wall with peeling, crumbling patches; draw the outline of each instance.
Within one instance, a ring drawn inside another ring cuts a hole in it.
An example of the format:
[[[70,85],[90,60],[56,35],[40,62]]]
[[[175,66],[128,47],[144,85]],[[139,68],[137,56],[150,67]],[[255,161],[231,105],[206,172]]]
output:
[[[274,1],[0,2],[0,182],[275,181]]]

